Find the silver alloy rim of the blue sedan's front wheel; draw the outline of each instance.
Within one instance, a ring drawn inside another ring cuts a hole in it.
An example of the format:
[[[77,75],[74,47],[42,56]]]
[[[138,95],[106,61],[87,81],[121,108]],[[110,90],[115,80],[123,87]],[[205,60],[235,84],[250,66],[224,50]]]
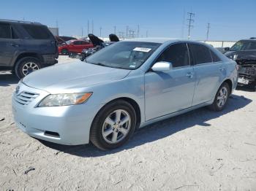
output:
[[[105,119],[102,127],[102,136],[110,144],[123,140],[131,128],[131,117],[123,109],[118,109]]]

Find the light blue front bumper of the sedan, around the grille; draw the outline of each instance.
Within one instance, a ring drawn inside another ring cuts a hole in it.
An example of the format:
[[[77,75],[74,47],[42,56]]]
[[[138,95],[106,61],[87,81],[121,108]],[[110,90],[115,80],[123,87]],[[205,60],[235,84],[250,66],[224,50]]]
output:
[[[29,136],[57,144],[88,144],[94,108],[80,104],[75,106],[36,107],[48,92],[20,85],[20,93],[39,94],[29,104],[17,101],[19,93],[12,94],[12,113],[15,124]]]

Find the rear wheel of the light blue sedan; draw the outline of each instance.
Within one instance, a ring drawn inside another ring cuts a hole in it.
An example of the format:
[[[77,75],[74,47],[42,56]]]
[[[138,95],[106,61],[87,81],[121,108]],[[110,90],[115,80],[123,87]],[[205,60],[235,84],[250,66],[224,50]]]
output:
[[[219,90],[217,91],[214,98],[214,103],[211,104],[210,109],[215,112],[221,112],[227,105],[229,96],[230,96],[230,86],[227,84],[227,82],[224,82],[219,87]]]

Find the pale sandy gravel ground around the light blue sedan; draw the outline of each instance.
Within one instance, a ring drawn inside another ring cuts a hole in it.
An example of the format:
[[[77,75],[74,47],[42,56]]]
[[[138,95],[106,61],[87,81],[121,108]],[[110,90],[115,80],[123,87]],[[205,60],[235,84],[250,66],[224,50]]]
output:
[[[0,73],[0,190],[256,190],[255,92],[236,90],[223,112],[202,108],[157,122],[102,152],[15,128],[17,82]]]

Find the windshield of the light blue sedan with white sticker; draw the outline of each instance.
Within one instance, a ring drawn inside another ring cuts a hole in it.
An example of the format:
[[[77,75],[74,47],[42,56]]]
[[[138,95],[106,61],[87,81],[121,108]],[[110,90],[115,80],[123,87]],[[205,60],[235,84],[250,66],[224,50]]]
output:
[[[86,62],[118,69],[138,69],[159,45],[153,42],[116,42],[86,58]]]

